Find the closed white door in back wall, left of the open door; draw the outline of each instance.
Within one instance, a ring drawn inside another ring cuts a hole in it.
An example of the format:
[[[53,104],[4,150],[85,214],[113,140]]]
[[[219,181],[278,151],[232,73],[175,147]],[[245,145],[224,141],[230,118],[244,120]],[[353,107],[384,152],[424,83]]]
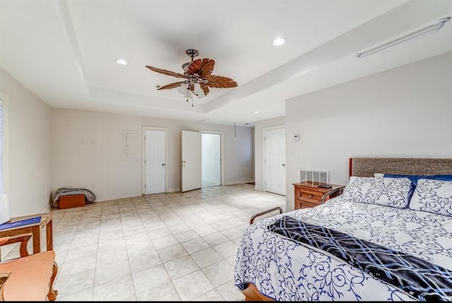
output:
[[[145,194],[165,192],[165,131],[145,131]]]

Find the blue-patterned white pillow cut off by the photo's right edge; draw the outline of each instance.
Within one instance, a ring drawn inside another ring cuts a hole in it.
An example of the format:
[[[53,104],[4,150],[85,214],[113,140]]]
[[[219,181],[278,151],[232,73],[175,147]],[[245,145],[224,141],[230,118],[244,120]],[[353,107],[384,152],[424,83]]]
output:
[[[430,179],[417,180],[410,206],[412,210],[452,216],[452,182]]]

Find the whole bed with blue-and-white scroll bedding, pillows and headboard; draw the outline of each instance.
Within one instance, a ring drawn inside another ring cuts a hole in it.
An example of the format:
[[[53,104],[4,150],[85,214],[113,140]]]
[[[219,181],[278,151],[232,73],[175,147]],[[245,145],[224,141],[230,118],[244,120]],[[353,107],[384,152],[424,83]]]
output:
[[[246,300],[451,301],[452,159],[351,158],[349,174],[342,195],[245,230]]]

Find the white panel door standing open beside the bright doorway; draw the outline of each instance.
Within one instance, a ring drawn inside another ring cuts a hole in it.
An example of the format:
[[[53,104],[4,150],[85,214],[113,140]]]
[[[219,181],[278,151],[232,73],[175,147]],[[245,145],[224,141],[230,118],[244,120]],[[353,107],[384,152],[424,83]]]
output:
[[[202,140],[197,131],[182,131],[182,192],[201,189]]]

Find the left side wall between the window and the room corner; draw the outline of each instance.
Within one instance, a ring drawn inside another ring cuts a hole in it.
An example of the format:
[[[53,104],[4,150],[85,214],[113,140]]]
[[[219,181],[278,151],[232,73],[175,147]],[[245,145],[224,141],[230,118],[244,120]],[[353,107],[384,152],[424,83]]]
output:
[[[11,218],[45,213],[50,207],[50,107],[0,69],[7,96],[8,188]]]

